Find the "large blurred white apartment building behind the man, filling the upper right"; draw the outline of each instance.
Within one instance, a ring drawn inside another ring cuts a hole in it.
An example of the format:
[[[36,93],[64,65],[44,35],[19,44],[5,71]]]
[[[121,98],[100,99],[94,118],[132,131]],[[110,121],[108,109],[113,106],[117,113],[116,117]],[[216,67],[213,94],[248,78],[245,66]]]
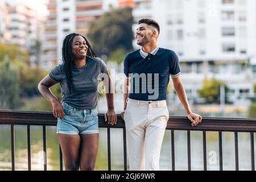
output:
[[[255,0],[135,0],[135,22],[160,24],[159,46],[180,58],[181,78],[189,97],[205,78],[225,81],[229,99],[254,97],[256,72]],[[134,24],[135,32],[137,24]],[[134,40],[134,47],[138,48]],[[255,64],[249,65],[247,64]]]

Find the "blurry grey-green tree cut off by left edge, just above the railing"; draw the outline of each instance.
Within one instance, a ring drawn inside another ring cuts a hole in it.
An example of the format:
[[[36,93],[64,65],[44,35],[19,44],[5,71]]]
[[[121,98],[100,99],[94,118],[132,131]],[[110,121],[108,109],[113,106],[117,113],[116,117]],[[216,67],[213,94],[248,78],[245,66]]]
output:
[[[19,76],[10,61],[0,62],[0,109],[15,109],[19,104]]]

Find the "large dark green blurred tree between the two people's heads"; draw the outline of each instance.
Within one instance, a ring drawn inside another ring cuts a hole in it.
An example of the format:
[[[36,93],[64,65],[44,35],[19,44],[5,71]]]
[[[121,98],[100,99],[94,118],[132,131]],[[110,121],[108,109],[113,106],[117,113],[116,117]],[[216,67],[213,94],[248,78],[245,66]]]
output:
[[[122,48],[133,49],[133,16],[131,8],[110,10],[90,23],[88,38],[98,55],[109,56]]]

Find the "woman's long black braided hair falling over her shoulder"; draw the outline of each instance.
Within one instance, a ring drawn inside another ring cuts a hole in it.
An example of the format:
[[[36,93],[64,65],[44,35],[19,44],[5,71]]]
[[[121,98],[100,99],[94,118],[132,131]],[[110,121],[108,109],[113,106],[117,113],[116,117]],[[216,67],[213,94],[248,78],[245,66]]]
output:
[[[73,88],[72,67],[73,67],[73,63],[74,63],[74,56],[72,53],[72,48],[73,48],[72,43],[73,43],[73,39],[75,38],[75,36],[82,36],[82,35],[76,34],[76,33],[67,35],[65,37],[65,39],[63,40],[63,47],[62,47],[62,61],[63,61],[64,68],[65,68],[65,74],[67,76],[68,92],[69,93],[72,93],[72,88]],[[86,56],[97,57],[96,53],[94,53],[94,51],[93,51],[92,47],[90,46],[89,42],[87,41],[87,39],[84,36],[82,36],[82,38],[84,38],[86,45],[88,46]]]

